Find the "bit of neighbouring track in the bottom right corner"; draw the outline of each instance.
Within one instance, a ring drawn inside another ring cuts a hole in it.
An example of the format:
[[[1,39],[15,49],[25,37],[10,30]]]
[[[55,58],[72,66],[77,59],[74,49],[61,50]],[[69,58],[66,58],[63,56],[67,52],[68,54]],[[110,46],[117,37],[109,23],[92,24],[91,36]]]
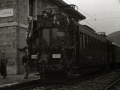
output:
[[[120,79],[107,86],[104,90],[120,90]]]

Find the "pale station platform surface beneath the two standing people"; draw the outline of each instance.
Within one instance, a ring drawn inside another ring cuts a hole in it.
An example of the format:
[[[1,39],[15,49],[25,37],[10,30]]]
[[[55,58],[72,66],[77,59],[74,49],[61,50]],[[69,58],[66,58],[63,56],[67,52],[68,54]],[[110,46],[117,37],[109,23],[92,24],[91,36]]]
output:
[[[38,79],[39,79],[39,75],[35,73],[29,74],[27,79],[24,79],[24,75],[7,75],[7,77],[3,79],[3,77],[0,75],[0,87],[10,86],[10,85],[29,82]]]

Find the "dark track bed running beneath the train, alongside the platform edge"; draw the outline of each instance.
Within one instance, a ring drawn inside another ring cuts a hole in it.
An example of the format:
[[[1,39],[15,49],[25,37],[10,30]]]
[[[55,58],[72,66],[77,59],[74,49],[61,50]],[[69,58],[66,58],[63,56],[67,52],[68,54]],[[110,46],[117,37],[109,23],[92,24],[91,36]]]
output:
[[[72,86],[72,85],[77,85],[81,81],[89,80],[92,78],[99,77],[103,74],[107,74],[110,71],[104,71],[104,72],[99,72],[96,74],[91,74],[91,75],[86,75],[86,76],[78,76],[72,79],[69,79],[68,81],[64,82],[57,82],[57,81],[49,81],[49,82],[43,82],[40,80],[34,80],[32,82],[27,82],[27,83],[21,83],[20,85],[13,85],[13,86],[7,86],[0,88],[0,90],[52,90],[52,89],[58,89],[64,86]],[[39,88],[39,89],[37,89]]]

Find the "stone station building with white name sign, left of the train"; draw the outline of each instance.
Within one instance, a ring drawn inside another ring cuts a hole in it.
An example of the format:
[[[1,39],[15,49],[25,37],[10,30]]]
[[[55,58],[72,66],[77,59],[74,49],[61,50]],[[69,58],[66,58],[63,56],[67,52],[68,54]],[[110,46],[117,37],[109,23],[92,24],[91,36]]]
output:
[[[8,58],[7,73],[22,74],[22,56],[17,48],[26,46],[27,17],[41,15],[46,7],[65,4],[62,0],[0,0],[0,59]]]

